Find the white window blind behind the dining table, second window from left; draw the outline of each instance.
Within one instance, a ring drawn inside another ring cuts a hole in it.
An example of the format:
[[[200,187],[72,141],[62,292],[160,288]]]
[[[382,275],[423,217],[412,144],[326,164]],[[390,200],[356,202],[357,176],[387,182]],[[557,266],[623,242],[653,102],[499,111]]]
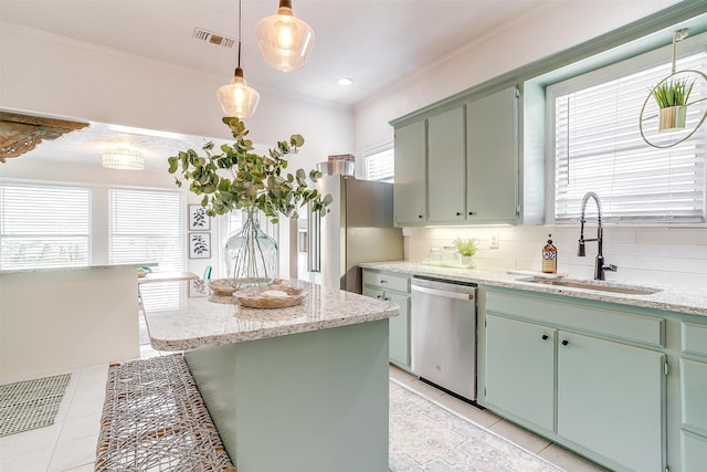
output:
[[[112,188],[109,200],[110,263],[157,263],[156,272],[184,270],[186,224],[178,191]],[[151,312],[181,306],[182,284],[141,284],[145,308]]]

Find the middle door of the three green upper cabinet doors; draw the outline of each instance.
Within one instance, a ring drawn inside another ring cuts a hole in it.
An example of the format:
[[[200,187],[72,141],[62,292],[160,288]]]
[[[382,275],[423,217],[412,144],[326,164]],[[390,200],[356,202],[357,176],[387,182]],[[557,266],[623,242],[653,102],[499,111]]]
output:
[[[428,119],[428,178],[430,222],[464,221],[465,177],[464,107]]]

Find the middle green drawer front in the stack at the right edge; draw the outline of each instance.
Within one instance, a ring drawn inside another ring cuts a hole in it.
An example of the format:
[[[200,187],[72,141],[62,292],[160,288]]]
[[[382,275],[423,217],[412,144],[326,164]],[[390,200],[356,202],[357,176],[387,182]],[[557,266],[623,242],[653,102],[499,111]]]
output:
[[[680,359],[683,424],[707,434],[707,363]]]

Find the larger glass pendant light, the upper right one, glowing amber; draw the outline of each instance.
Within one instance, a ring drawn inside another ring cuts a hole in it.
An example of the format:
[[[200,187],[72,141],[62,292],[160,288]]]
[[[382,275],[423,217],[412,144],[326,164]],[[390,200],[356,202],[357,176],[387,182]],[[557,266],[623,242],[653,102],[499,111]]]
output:
[[[295,18],[292,0],[279,0],[277,14],[263,18],[255,25],[263,60],[283,72],[304,67],[314,45],[314,30]]]

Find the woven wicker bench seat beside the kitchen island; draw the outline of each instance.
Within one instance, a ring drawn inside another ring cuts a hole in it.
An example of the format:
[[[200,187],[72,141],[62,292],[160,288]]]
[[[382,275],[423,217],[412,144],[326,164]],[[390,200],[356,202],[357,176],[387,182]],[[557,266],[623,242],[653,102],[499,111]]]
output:
[[[236,471],[181,355],[110,365],[95,470]]]

